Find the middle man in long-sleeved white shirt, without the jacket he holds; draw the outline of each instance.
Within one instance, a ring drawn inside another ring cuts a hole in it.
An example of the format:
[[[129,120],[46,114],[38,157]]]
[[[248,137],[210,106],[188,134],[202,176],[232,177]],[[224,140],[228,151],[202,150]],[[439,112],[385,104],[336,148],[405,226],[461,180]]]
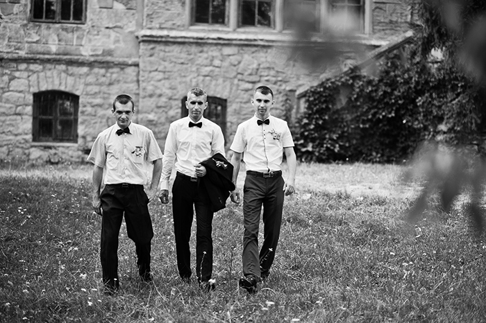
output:
[[[196,210],[196,277],[203,291],[215,288],[212,276],[212,216],[210,198],[205,186],[199,185],[200,177],[206,175],[201,161],[218,152],[224,153],[224,137],[216,123],[205,119],[203,112],[208,107],[206,92],[195,87],[187,93],[185,106],[189,115],[171,123],[165,141],[160,177],[160,200],[168,202],[169,177],[176,167],[176,178],[172,185],[172,213],[176,238],[177,268],[183,281],[190,282],[192,275],[189,241],[193,205]]]

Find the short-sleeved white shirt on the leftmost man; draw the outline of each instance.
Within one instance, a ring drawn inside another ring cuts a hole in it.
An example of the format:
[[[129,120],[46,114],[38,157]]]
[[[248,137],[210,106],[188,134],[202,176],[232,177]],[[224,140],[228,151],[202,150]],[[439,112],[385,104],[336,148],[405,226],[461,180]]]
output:
[[[98,134],[87,161],[106,168],[104,184],[148,184],[150,165],[162,158],[152,130],[131,122],[130,133],[117,135],[118,125]]]

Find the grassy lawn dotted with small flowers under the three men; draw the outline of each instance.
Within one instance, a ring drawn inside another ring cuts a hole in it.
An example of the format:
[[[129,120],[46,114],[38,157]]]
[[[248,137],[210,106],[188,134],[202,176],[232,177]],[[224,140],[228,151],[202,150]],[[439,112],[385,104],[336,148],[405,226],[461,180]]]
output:
[[[178,279],[171,204],[151,203],[155,281],[140,282],[123,226],[121,292],[108,297],[101,219],[90,207],[91,168],[3,164],[0,321],[485,322],[484,235],[471,230],[464,202],[449,214],[432,210],[416,224],[405,222],[418,187],[401,182],[403,171],[300,164],[276,261],[256,295],[237,288],[241,206],[228,204],[215,215],[217,290],[206,295]]]

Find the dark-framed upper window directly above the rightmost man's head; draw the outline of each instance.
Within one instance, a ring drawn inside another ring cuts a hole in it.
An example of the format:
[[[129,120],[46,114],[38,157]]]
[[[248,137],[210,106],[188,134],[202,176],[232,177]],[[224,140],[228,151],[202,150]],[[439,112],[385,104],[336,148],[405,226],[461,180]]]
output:
[[[241,26],[274,27],[274,0],[242,0]]]

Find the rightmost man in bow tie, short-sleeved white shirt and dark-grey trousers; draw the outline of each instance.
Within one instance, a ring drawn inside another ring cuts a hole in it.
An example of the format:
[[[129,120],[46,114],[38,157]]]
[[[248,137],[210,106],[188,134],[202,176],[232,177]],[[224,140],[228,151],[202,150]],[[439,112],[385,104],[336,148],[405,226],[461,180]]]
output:
[[[255,89],[251,104],[255,116],[244,121],[236,130],[231,150],[233,157],[233,184],[236,185],[241,157],[246,165],[243,195],[243,275],[240,287],[255,293],[257,283],[266,279],[274,262],[284,195],[294,193],[296,156],[294,141],[286,121],[270,115],[274,92],[269,87]],[[287,157],[287,182],[282,177],[283,153]],[[231,193],[233,202],[240,202],[240,192]],[[264,241],[258,252],[258,227],[263,206]]]

